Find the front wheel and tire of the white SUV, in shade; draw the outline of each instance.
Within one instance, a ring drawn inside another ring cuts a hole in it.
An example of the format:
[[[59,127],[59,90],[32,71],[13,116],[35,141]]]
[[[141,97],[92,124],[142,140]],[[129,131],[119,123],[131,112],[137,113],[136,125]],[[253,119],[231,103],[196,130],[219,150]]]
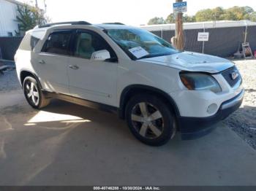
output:
[[[132,134],[150,146],[166,144],[176,133],[173,113],[154,95],[132,97],[127,103],[125,117]]]

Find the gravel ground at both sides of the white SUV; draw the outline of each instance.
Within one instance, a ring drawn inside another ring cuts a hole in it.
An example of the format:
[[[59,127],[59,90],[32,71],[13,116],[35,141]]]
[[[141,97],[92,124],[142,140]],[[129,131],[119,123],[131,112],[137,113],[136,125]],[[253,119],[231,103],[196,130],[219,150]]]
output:
[[[235,63],[244,80],[244,102],[223,123],[256,149],[256,60]],[[4,75],[0,74],[0,91],[11,90],[20,90],[15,70],[7,70],[4,71]]]

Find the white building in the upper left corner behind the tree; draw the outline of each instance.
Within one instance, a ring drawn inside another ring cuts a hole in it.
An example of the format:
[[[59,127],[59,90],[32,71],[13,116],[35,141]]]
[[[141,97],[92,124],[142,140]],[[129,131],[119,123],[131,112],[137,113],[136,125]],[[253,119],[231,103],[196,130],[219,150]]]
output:
[[[17,5],[22,5],[15,0],[0,0],[0,36],[15,36],[18,31],[16,20]]]

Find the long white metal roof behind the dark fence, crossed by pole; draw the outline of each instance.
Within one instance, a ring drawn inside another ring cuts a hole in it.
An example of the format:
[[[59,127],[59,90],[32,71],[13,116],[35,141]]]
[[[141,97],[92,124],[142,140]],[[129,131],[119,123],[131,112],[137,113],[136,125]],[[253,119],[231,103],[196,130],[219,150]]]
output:
[[[207,21],[197,23],[184,23],[183,28],[189,29],[200,29],[200,28],[227,28],[227,27],[239,27],[239,26],[256,26],[255,22],[250,20],[220,20],[220,21]],[[163,24],[163,25],[148,25],[140,26],[148,31],[173,31],[175,30],[175,23]]]

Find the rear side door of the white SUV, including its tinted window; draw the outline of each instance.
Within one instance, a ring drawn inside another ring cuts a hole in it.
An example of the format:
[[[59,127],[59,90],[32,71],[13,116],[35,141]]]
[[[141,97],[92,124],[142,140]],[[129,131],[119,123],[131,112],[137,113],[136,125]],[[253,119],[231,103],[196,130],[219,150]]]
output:
[[[69,94],[67,66],[71,36],[70,30],[53,31],[42,51],[34,54],[32,58],[34,70],[45,90]]]

